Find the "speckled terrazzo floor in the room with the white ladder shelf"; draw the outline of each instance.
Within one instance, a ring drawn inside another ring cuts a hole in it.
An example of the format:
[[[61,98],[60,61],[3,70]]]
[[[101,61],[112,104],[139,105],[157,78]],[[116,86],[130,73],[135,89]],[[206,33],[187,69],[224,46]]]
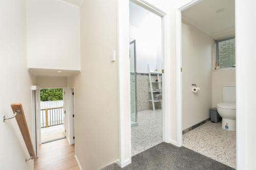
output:
[[[162,109],[138,112],[138,122],[131,128],[132,156],[163,141]]]

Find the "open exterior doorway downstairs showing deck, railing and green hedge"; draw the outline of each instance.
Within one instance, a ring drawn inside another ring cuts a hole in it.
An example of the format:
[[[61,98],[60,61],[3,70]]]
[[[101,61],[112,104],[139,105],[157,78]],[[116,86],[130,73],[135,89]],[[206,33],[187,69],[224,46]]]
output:
[[[64,90],[40,89],[41,143],[66,138]]]

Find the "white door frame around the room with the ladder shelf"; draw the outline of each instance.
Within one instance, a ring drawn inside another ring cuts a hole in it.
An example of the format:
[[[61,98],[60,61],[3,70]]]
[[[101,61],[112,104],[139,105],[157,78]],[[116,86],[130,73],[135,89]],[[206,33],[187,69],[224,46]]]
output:
[[[170,97],[166,92],[170,91],[170,80],[166,75],[170,72],[170,62],[167,58],[167,13],[156,6],[143,0],[130,0],[140,7],[151,11],[162,18],[162,62],[164,74],[162,75],[163,90],[163,140],[171,142],[170,139]],[[129,58],[129,0],[117,1],[117,30],[118,30],[118,106],[119,106],[119,159],[116,161],[120,167],[132,162],[131,151],[131,103],[130,103],[130,58]],[[176,144],[176,143],[175,143]]]

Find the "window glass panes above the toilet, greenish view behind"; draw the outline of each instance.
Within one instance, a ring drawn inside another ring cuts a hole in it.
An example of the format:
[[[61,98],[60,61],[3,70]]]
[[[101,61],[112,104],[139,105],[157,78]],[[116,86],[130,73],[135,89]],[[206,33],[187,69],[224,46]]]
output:
[[[216,40],[216,69],[236,66],[236,38]]]

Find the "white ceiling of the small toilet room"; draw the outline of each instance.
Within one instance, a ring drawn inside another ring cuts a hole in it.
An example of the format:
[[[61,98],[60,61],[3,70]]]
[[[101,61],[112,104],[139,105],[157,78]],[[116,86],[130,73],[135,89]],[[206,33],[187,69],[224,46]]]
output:
[[[204,0],[183,11],[182,19],[211,36],[234,31],[234,0]]]

